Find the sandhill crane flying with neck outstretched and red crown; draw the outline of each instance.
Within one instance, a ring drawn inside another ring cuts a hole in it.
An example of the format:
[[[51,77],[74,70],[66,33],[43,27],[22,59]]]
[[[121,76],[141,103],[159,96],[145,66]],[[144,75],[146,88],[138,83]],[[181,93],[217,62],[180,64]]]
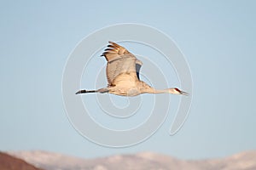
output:
[[[122,96],[136,96],[138,94],[183,94],[188,93],[178,88],[167,88],[157,90],[150,87],[146,82],[139,78],[139,70],[143,62],[138,60],[127,49],[115,42],[109,42],[105,49],[104,56],[108,61],[107,78],[108,88],[98,90],[79,90],[76,94],[86,93],[109,93]]]

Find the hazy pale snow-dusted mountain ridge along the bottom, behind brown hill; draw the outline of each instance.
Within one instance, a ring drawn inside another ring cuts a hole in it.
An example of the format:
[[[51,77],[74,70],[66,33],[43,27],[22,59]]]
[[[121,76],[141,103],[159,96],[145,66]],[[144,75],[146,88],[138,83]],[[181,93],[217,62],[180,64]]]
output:
[[[116,155],[96,159],[82,159],[47,151],[18,151],[9,154],[45,170],[255,170],[256,150],[238,153],[221,159],[187,161],[142,152],[134,155]]]

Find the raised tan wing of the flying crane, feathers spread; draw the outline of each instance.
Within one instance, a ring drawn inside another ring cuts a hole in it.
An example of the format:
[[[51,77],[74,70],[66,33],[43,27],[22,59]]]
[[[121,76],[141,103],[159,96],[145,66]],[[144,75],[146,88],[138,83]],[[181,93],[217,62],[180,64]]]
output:
[[[121,75],[131,76],[129,81],[137,81],[139,79],[139,71],[142,61],[138,60],[127,49],[123,48],[115,42],[109,42],[108,48],[102,54],[107,61],[107,78],[108,86],[116,85],[114,80]]]

